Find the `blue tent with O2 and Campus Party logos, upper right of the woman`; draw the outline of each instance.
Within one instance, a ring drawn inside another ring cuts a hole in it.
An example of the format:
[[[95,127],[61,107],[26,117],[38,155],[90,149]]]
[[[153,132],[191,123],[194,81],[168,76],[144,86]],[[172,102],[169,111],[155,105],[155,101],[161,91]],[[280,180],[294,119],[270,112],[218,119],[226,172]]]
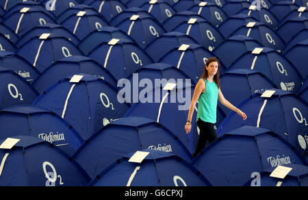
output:
[[[272,80],[277,88],[291,92],[298,90],[303,77],[294,65],[274,49],[265,47],[261,49],[259,54],[255,54],[255,49],[250,49],[241,58],[235,60],[229,68],[246,68],[259,71]]]

